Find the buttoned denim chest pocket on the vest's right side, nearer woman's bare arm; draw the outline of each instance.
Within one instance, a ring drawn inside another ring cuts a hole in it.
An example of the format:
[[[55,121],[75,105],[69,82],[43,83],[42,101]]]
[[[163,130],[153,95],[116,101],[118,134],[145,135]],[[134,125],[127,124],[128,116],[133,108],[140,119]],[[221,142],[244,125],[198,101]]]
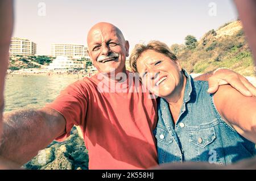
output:
[[[189,142],[204,148],[216,139],[213,127],[189,131]]]

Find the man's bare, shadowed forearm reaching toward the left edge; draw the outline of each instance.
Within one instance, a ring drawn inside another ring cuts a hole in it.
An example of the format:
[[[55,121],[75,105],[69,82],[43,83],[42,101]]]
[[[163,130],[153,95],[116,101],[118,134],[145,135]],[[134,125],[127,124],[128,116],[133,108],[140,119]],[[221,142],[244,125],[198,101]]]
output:
[[[50,108],[4,115],[0,156],[22,166],[64,132],[64,117]]]

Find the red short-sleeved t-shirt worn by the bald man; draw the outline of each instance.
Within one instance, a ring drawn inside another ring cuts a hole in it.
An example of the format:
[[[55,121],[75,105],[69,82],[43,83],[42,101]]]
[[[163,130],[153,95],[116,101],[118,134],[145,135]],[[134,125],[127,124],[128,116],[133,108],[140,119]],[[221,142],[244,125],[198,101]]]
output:
[[[89,169],[156,166],[152,133],[157,120],[156,100],[149,99],[148,92],[138,91],[138,88],[142,90],[141,83],[135,83],[133,78],[113,89],[113,82],[102,81],[97,76],[72,83],[46,105],[66,120],[66,133],[56,140],[64,141],[73,125],[79,125],[88,149]]]

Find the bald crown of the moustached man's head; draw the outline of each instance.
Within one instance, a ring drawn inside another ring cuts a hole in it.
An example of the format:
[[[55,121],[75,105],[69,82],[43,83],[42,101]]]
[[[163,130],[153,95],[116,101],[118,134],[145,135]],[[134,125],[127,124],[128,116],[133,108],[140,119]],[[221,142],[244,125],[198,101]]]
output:
[[[87,44],[92,41],[92,37],[97,35],[101,32],[109,32],[114,33],[121,41],[125,41],[125,37],[123,36],[123,33],[121,30],[119,30],[118,27],[114,26],[114,24],[107,23],[107,22],[100,22],[95,24],[92,28],[90,28],[88,34],[87,34]]]

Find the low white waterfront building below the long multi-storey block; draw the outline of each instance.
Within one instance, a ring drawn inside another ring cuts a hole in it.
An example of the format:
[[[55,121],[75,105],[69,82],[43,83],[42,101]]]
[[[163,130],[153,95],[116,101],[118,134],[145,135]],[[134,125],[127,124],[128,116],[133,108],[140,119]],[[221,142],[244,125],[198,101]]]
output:
[[[69,57],[57,56],[56,59],[49,64],[48,69],[84,69],[84,64],[81,61],[73,61]]]

